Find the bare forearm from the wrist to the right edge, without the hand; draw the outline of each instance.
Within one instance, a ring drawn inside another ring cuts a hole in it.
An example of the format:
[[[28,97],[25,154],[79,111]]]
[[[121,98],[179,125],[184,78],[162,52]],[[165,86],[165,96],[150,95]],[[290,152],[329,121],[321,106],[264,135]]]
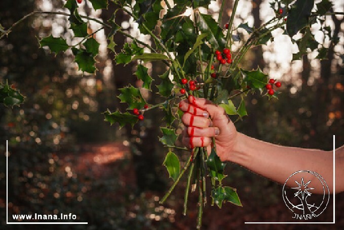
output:
[[[333,193],[333,152],[317,149],[302,149],[274,145],[262,142],[238,133],[236,146],[229,156],[229,160],[244,166],[245,168],[260,174],[266,178],[284,184],[287,178],[301,170],[318,173],[328,184]],[[341,151],[342,152],[342,151]],[[336,154],[336,192],[343,191],[343,183],[339,178],[343,177],[343,154]],[[301,179],[301,174],[299,176]],[[305,182],[315,179],[314,175],[303,174]],[[307,180],[307,181],[306,181]],[[289,184],[288,184],[289,183]],[[287,186],[294,187],[294,181],[288,180]],[[314,193],[322,193],[322,187],[316,187]]]

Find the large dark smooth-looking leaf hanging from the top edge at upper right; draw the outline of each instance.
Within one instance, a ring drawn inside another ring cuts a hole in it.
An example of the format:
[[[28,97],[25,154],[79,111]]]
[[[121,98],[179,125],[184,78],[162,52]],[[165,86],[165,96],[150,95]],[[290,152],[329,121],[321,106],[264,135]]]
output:
[[[314,6],[314,0],[296,0],[288,11],[287,32],[290,38],[309,24],[309,16]]]

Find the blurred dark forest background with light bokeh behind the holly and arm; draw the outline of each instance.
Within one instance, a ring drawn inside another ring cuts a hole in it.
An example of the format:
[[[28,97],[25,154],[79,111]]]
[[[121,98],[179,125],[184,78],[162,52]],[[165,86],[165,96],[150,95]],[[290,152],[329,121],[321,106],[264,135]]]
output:
[[[333,1],[343,11],[342,1]],[[232,1],[226,3],[223,22],[228,21]],[[213,4],[214,14],[218,6]],[[1,1],[0,23],[8,28],[33,10],[57,11],[63,1]],[[87,1],[80,5],[84,15],[108,20],[116,10],[94,12]],[[269,10],[263,0],[241,1],[236,24],[249,21],[260,25]],[[339,8],[339,9],[338,9]],[[137,25],[119,12],[117,23],[137,37]],[[254,94],[247,98],[249,116],[237,129],[259,140],[304,148],[332,149],[344,144],[343,17],[328,16],[332,36],[340,38],[329,46],[327,60],[314,59],[314,53],[290,64],[293,46],[286,36],[276,34],[276,44],[256,47],[246,56],[247,68],[259,67],[271,78],[282,81],[279,100]],[[0,216],[6,224],[6,140],[9,140],[9,221],[12,214],[68,214],[88,225],[51,225],[51,229],[194,229],[197,200],[190,195],[190,211],[182,216],[183,188],[177,187],[161,206],[159,198],[171,180],[162,166],[167,149],[159,143],[158,110],[145,113],[145,120],[132,130],[103,121],[102,112],[125,109],[117,89],[128,83],[139,85],[133,64],[115,66],[106,51],[105,34],[101,43],[96,75],[78,71],[71,53],[56,57],[40,49],[36,37],[62,35],[71,38],[67,17],[35,15],[15,27],[0,40],[0,81],[6,79],[26,96],[25,103],[13,109],[0,106]],[[96,25],[90,23],[90,31]],[[317,38],[317,36],[316,36]],[[318,38],[319,39],[319,38]],[[322,39],[320,37],[320,39]],[[70,41],[69,42],[75,42]],[[124,38],[117,35],[115,43]],[[285,43],[278,43],[285,42]],[[282,44],[282,45],[281,45]],[[164,72],[160,63],[148,65],[151,76]],[[159,80],[157,80],[159,81]],[[156,89],[155,89],[156,90]],[[149,104],[159,103],[153,92],[143,92]],[[186,159],[188,153],[177,152]],[[204,229],[294,229],[294,225],[245,225],[244,222],[294,221],[283,203],[282,186],[228,163],[224,184],[236,187],[243,208],[225,204],[222,210],[207,204]],[[185,179],[185,178],[184,178]],[[342,180],[343,178],[337,178]],[[209,188],[209,186],[208,186]],[[209,193],[208,193],[209,194]],[[330,203],[332,200],[330,200]],[[332,205],[315,221],[329,221]],[[310,229],[344,227],[344,194],[336,195],[336,224],[309,225]],[[302,225],[305,227],[305,225]],[[6,228],[26,229],[27,225]],[[33,228],[33,225],[31,226]],[[36,226],[37,227],[37,226]],[[31,229],[31,228],[29,228]]]

